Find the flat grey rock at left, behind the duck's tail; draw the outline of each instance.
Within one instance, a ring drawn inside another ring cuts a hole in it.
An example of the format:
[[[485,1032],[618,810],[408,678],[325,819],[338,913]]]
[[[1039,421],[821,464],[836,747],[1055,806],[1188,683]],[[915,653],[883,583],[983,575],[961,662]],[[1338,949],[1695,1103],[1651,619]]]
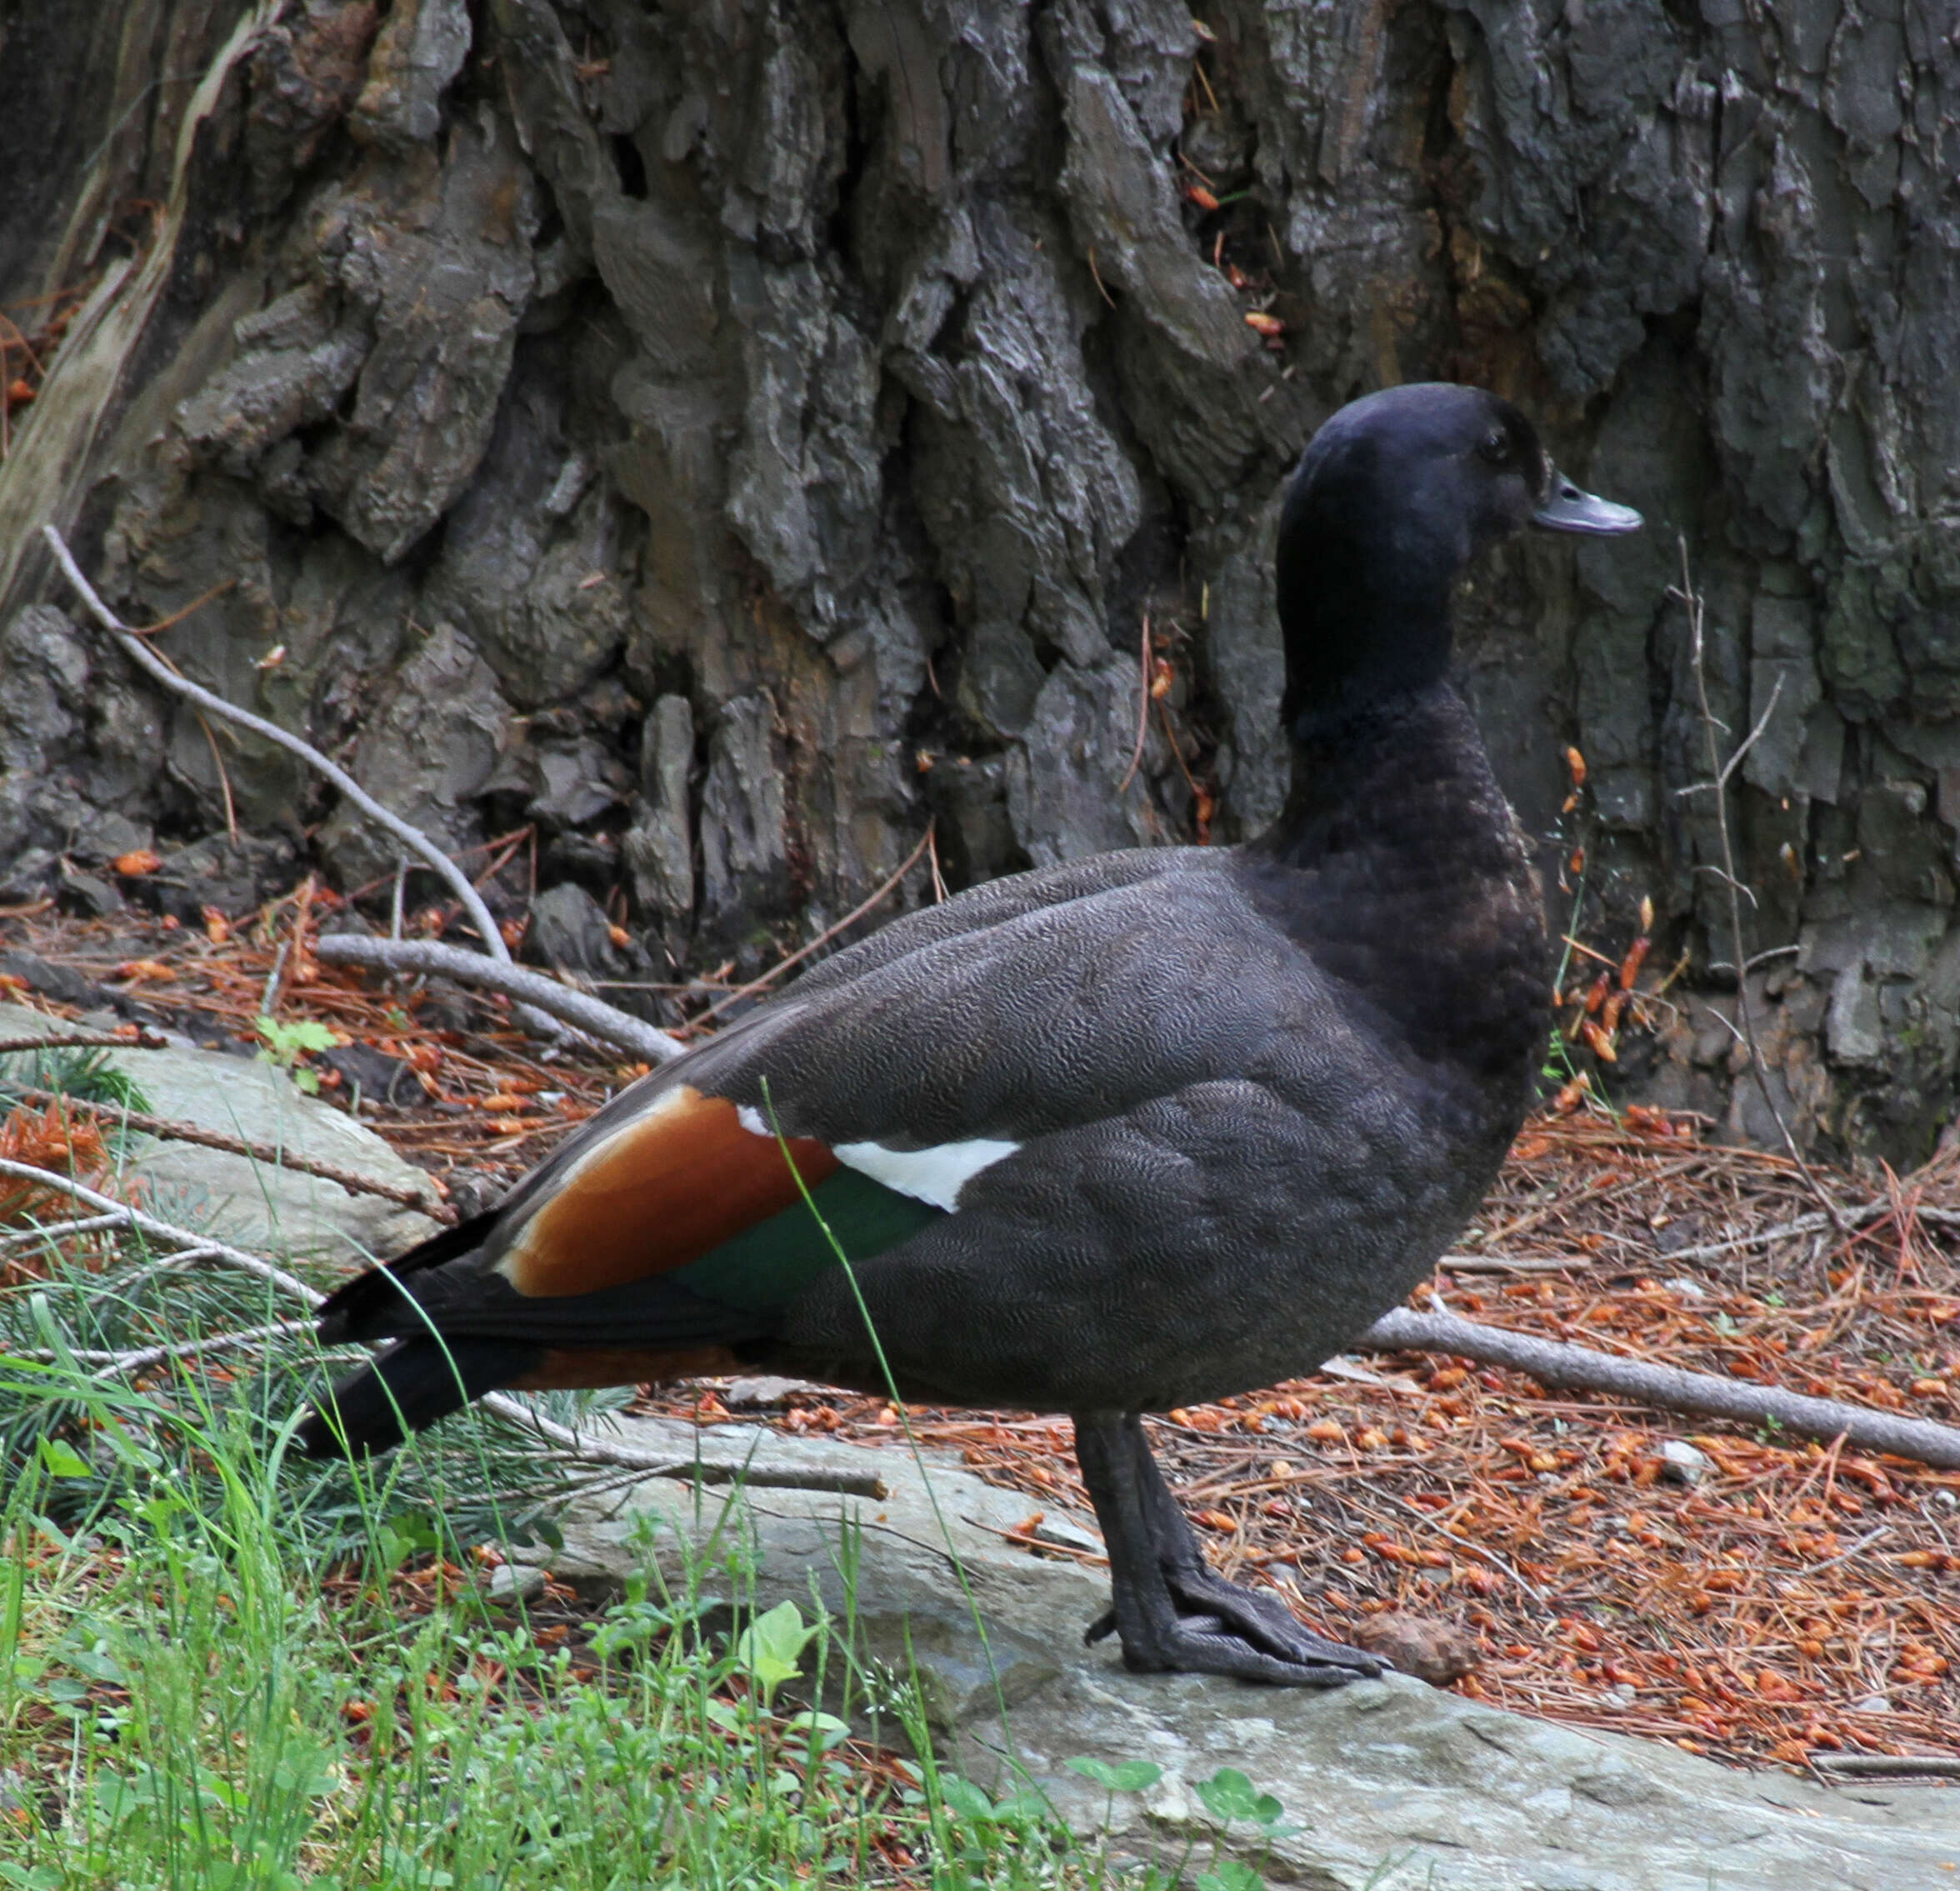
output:
[[[63,1017],[0,1005],[0,1037],[69,1037],[76,1029]],[[302,1095],[272,1064],[188,1046],[104,1054],[141,1088],[151,1115],[412,1188],[437,1205],[435,1184],[419,1168],[353,1117]],[[437,1227],[384,1195],[167,1137],[135,1139],[127,1174],[143,1180],[149,1213],[274,1260],[365,1262]]]

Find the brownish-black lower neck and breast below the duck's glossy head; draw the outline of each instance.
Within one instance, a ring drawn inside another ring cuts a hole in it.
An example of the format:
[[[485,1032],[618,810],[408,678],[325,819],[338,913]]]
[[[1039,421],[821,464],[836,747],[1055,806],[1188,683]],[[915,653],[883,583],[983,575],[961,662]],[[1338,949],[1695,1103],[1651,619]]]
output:
[[[1245,850],[1274,921],[1419,1056],[1515,1078],[1548,1015],[1544,919],[1484,743],[1446,682],[1309,715],[1280,819]]]

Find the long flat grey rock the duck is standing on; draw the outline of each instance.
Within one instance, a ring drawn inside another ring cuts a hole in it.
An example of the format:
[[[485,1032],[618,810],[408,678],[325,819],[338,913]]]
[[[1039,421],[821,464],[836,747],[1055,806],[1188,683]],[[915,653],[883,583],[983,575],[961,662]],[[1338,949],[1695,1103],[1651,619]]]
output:
[[[929,1493],[902,1444],[780,1438],[755,1425],[694,1434],[676,1421],[619,1423],[639,1448],[676,1460],[698,1450],[704,1481],[647,1479],[574,1505],[563,1519],[564,1548],[549,1558],[557,1576],[582,1587],[623,1579],[637,1566],[641,1513],[662,1519],[659,1542],[711,1554],[745,1542],[757,1607],[788,1597],[806,1611],[811,1599],[837,1611],[855,1558],[857,1646],[898,1670],[909,1648],[941,1746],[970,1777],[1004,1785],[1025,1768],[1070,1824],[1094,1832],[1105,1795],[1068,1771],[1068,1760],[1162,1768],[1151,1791],[1117,1795],[1119,1852],[1174,1860],[1196,1842],[1194,1858],[1205,1858],[1213,1828],[1194,1787],[1235,1766],[1303,1826],[1272,1848],[1262,1873],[1311,1891],[1960,1883],[1956,1791],[1737,1771],[1672,1746],[1529,1721],[1401,1675],[1333,1693],[1133,1675],[1113,1642],[1082,1644],[1082,1628],[1107,1603],[1102,1572],[1007,1540],[1037,1509],[1070,1521],[1058,1507],[982,1483],[943,1454],[927,1454]],[[708,1481],[739,1464],[755,1478],[829,1476],[882,1485],[884,1495]],[[1086,1528],[1090,1519],[1072,1523]],[[988,1624],[998,1693],[947,1536]],[[1256,1850],[1243,1856],[1258,1864]]]

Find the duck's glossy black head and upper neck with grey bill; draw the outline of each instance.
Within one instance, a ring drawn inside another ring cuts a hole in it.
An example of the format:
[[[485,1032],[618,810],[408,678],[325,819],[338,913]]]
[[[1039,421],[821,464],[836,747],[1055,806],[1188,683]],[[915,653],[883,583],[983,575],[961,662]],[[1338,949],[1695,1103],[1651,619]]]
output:
[[[1280,511],[1288,731],[1441,682],[1450,588],[1531,523],[1621,533],[1641,515],[1580,492],[1531,421],[1482,388],[1435,380],[1348,402]]]

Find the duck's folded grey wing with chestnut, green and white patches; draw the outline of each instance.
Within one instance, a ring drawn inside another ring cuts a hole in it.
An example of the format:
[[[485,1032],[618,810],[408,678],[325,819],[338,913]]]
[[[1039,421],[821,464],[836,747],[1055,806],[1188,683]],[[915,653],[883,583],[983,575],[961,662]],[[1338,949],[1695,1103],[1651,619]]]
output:
[[[1058,1133],[1284,1056],[1298,954],[1223,858],[1176,860],[962,896],[841,954],[623,1091],[492,1215],[345,1285],[321,1336],[482,1346],[500,1383],[729,1370],[835,1268],[833,1236],[886,1254]],[[461,1403],[474,1380],[449,1380]]]

